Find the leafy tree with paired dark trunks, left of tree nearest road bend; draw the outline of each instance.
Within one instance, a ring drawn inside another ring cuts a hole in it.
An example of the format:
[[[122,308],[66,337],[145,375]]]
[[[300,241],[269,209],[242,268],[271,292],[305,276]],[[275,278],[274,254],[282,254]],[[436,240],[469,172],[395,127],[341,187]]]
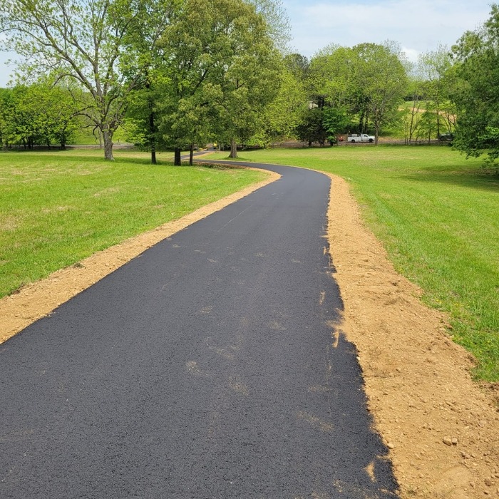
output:
[[[233,4],[234,2],[232,2]],[[180,165],[180,150],[205,143],[211,136],[212,81],[224,64],[225,0],[186,0],[175,11],[174,22],[165,30],[160,47],[163,62],[155,76],[161,96],[156,104],[159,129],[175,150],[175,165]]]

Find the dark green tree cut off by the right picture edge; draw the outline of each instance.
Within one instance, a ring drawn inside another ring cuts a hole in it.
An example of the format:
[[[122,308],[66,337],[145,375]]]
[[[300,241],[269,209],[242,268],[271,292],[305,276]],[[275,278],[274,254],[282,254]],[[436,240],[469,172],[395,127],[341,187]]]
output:
[[[488,21],[463,34],[452,50],[459,111],[454,147],[473,157],[486,153],[493,164],[499,158],[499,6],[493,4]]]

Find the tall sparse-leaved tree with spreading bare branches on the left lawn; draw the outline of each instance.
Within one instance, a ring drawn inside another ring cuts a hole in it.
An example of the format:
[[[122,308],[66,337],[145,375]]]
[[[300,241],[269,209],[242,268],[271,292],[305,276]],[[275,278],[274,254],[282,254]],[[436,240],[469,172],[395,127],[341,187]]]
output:
[[[4,48],[24,56],[30,74],[52,73],[85,89],[82,112],[101,131],[104,157],[113,160],[113,133],[130,91],[141,84],[168,24],[170,0],[0,0]],[[137,50],[140,26],[148,36]],[[147,45],[147,50],[145,50]]]

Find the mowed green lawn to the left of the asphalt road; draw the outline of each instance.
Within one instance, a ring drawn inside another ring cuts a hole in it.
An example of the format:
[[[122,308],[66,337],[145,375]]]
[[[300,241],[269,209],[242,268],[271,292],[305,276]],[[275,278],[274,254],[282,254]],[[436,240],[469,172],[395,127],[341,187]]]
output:
[[[156,166],[146,153],[0,153],[0,297],[262,180],[264,173]],[[162,159],[163,158],[163,159]]]

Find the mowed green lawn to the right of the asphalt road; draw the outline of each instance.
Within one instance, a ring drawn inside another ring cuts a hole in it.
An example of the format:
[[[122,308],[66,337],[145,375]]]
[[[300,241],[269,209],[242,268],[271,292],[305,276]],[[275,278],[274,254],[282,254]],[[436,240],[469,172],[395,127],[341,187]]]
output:
[[[243,152],[240,160],[345,178],[398,272],[450,314],[451,334],[478,361],[477,378],[499,381],[499,176],[481,160],[447,146],[362,145]]]

